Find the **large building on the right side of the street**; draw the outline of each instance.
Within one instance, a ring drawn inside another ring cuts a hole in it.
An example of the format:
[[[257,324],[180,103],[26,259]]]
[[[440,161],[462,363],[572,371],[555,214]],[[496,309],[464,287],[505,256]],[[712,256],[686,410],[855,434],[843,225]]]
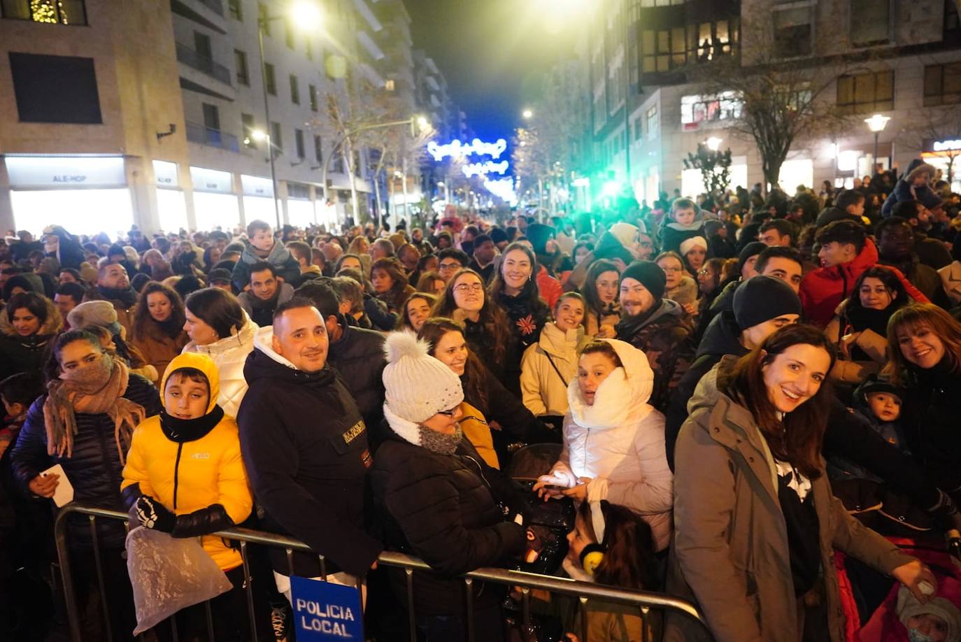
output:
[[[732,128],[743,107],[736,92],[705,92],[701,80],[730,61],[744,74],[766,65],[829,74],[817,100],[849,116],[840,131],[795,141],[778,181],[789,194],[823,181],[851,185],[875,161],[903,169],[924,154],[945,165],[945,145],[961,136],[953,0],[604,0],[586,24],[579,47],[591,106],[582,129],[593,158],[581,170],[595,190],[629,183],[649,205],[662,191],[696,195],[700,173],[682,160],[708,138],[731,149],[731,187],[761,183],[755,143]],[[876,159],[864,123],[875,113],[890,117]]]

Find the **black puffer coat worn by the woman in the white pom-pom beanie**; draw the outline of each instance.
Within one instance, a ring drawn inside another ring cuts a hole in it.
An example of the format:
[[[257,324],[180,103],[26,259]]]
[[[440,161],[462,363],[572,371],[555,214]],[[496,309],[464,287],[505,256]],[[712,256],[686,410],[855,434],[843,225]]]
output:
[[[460,614],[464,584],[451,578],[505,565],[527,545],[525,529],[507,521],[511,509],[524,507],[520,488],[485,464],[466,438],[454,455],[440,455],[391,435],[374,456],[370,475],[387,546],[422,558],[436,571],[414,572],[417,613]],[[507,514],[498,502],[510,506]],[[395,592],[406,595],[404,573],[391,578]],[[504,597],[492,584],[475,582],[474,590],[477,608]]]

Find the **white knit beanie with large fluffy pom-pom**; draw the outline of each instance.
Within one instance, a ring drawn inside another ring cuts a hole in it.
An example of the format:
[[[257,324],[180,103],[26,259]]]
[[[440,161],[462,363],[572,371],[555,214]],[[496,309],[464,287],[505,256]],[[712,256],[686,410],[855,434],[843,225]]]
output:
[[[416,334],[408,330],[388,334],[383,352],[387,358],[383,368],[385,415],[389,411],[389,415],[418,424],[464,400],[460,378],[431,357],[428,342],[418,340]],[[391,428],[397,430],[393,422]]]

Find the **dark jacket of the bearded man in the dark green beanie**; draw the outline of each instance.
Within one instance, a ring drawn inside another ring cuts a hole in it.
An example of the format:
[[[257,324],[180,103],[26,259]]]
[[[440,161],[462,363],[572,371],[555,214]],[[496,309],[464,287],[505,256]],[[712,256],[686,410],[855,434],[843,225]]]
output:
[[[622,317],[616,326],[617,338],[643,352],[651,363],[651,405],[656,408],[667,407],[668,397],[694,360],[692,332],[684,316],[677,303],[662,299],[646,313]]]

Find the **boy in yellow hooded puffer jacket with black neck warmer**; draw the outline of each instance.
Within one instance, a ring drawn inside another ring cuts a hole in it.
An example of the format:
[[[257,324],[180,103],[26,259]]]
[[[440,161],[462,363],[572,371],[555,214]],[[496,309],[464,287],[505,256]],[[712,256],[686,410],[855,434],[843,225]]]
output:
[[[160,382],[163,410],[134,432],[120,484],[140,525],[174,537],[200,537],[204,551],[234,590],[210,601],[217,640],[244,639],[243,560],[210,533],[244,521],[254,505],[234,417],[217,406],[219,378],[207,355],[185,353],[167,365]],[[206,613],[195,605],[178,613],[180,635],[205,633]],[[162,629],[159,627],[158,630]],[[188,636],[189,637],[189,636]]]

